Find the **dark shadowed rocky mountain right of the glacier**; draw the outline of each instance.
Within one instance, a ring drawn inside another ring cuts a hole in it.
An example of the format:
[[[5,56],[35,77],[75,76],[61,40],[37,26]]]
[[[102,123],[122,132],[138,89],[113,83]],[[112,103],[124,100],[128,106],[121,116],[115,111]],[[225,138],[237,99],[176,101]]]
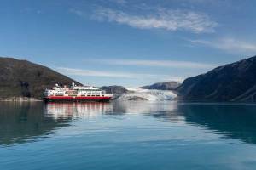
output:
[[[189,77],[177,88],[190,101],[256,101],[256,56]]]

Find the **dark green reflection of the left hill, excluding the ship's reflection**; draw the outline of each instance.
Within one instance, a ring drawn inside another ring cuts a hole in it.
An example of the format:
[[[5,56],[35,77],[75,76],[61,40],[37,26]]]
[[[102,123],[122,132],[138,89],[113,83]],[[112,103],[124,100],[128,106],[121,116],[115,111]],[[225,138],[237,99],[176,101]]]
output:
[[[0,107],[0,144],[3,145],[47,137],[55,128],[67,127],[69,122],[44,116],[44,105],[38,103],[1,103]]]

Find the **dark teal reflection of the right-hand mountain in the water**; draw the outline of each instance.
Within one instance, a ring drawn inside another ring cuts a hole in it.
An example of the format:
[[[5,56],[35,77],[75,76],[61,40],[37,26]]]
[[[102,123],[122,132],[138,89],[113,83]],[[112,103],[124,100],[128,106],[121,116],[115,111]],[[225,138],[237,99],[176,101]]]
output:
[[[256,144],[256,105],[179,105],[178,111],[183,113],[187,123],[207,127],[223,138]]]

